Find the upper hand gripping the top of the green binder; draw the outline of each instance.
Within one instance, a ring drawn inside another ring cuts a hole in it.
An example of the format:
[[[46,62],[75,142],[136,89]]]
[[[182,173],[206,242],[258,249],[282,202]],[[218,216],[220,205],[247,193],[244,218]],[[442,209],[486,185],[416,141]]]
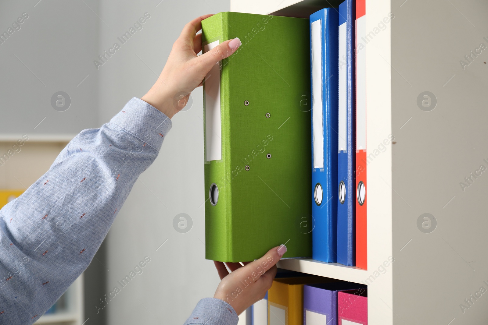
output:
[[[197,56],[202,51],[202,20],[212,15],[204,15],[187,23],[164,65],[158,80],[141,99],[169,118],[181,111],[190,93],[203,83],[203,78],[220,60],[231,56],[239,46],[239,38],[229,39]]]

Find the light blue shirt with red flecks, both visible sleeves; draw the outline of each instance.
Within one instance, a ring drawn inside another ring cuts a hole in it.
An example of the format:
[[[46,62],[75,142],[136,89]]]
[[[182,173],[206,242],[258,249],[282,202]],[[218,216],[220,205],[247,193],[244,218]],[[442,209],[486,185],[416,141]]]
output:
[[[0,324],[36,322],[88,267],[170,129],[166,115],[134,97],[100,129],[75,136],[0,210]],[[218,299],[203,299],[193,314],[205,324],[237,324]]]

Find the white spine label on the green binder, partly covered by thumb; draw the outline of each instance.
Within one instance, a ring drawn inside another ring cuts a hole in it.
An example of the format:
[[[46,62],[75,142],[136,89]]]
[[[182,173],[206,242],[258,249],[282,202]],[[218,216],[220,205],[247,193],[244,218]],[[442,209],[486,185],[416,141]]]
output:
[[[219,40],[204,46],[208,52],[219,45]],[[220,112],[220,62],[205,76],[205,159],[222,159],[222,134]]]

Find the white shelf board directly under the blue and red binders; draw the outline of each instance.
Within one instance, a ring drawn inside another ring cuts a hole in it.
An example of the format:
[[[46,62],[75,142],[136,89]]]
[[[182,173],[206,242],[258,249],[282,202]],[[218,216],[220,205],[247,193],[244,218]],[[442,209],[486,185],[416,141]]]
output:
[[[312,259],[289,259],[278,262],[278,268],[324,276],[355,283],[363,283],[370,275],[368,271],[348,267],[339,263],[325,263]]]

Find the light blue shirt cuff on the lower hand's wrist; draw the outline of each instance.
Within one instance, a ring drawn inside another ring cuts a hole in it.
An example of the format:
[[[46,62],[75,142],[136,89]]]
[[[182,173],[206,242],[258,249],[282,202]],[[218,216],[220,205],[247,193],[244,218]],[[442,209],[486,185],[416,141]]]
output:
[[[237,325],[239,316],[232,306],[217,298],[204,298],[193,309],[184,325]]]

